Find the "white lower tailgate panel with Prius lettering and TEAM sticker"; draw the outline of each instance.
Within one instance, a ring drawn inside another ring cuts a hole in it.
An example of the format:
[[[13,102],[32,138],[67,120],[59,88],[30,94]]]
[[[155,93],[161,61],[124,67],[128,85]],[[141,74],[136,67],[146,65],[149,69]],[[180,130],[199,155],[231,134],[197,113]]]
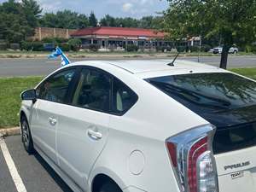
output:
[[[215,155],[219,192],[256,191],[256,147]]]

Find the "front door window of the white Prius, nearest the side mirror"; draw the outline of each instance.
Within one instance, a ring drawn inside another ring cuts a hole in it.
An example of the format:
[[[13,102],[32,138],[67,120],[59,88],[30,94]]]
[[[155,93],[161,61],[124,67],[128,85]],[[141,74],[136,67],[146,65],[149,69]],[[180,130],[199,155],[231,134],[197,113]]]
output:
[[[65,102],[75,71],[76,69],[69,69],[46,79],[37,89],[38,98],[50,102]]]

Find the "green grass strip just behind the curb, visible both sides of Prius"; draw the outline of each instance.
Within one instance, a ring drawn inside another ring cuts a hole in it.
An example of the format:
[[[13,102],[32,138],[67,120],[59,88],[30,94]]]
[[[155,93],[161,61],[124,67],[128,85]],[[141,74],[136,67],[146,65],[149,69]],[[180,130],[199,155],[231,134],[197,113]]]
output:
[[[256,68],[230,69],[256,79]],[[0,128],[19,125],[20,92],[33,88],[43,77],[0,78]]]

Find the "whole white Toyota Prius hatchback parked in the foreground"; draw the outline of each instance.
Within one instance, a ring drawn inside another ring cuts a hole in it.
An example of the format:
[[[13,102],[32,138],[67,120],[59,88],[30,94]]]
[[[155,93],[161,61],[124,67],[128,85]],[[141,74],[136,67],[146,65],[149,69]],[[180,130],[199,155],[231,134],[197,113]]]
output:
[[[81,61],[21,94],[22,142],[74,191],[256,191],[256,83],[190,61]]]

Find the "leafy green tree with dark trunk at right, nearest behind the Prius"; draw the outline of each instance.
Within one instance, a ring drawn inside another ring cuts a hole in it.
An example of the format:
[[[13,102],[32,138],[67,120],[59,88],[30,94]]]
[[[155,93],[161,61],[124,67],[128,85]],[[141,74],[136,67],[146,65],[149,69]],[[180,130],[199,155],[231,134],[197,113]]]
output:
[[[222,39],[220,67],[227,67],[234,44],[252,44],[256,34],[255,0],[167,0],[165,30],[173,39],[200,36]]]

